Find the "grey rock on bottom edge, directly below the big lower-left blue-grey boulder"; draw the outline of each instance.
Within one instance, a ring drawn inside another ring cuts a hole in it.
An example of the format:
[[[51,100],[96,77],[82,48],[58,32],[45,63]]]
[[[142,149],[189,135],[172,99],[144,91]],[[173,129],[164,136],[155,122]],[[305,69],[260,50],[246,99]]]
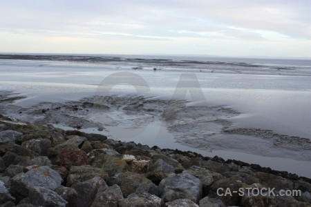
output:
[[[65,207],[68,202],[53,190],[42,187],[33,187],[30,189],[28,201],[37,206],[57,206]]]

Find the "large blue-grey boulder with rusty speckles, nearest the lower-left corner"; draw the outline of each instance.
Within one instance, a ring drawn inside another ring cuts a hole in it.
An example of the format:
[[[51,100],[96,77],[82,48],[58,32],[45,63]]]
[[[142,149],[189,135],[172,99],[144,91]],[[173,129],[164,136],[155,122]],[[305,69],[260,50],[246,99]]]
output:
[[[58,172],[48,166],[43,166],[20,173],[11,179],[10,193],[17,199],[27,197],[29,190],[34,187],[44,187],[54,190],[62,183]]]

